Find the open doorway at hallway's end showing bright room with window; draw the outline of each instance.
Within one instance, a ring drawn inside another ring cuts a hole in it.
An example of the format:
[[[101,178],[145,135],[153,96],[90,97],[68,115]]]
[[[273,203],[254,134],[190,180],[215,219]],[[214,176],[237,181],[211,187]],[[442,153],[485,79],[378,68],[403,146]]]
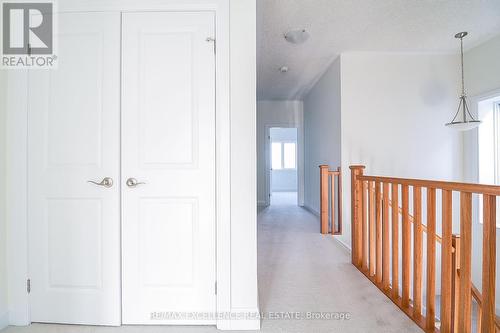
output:
[[[269,194],[271,205],[296,205],[298,193],[296,127],[269,129]]]

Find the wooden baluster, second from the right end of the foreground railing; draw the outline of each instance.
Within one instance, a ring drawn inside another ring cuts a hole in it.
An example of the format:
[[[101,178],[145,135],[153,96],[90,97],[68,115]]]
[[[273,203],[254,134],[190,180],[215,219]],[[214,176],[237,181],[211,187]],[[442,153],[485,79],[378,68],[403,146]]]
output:
[[[471,332],[472,194],[460,192],[460,285],[458,286],[458,332]]]

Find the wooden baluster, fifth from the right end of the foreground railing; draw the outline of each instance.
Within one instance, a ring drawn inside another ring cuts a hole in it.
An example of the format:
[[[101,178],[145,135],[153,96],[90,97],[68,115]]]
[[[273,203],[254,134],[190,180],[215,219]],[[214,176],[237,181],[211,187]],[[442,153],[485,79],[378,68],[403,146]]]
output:
[[[422,189],[413,187],[413,312],[422,315]]]

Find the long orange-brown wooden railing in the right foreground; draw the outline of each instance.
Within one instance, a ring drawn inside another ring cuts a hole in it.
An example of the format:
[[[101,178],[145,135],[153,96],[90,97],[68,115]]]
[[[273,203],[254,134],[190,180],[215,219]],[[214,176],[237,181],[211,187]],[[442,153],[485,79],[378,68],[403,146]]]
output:
[[[495,220],[500,186],[366,176],[364,166],[354,165],[350,169],[352,263],[425,332],[471,332],[473,298],[481,312],[480,332],[495,332],[498,326],[495,314]],[[442,199],[441,236],[436,234],[438,191]],[[459,235],[452,234],[453,192],[460,193]],[[482,295],[471,281],[473,194],[483,198]],[[422,212],[423,200],[426,212]],[[410,215],[411,206],[413,216]],[[422,223],[424,213],[426,224]],[[426,244],[423,244],[424,232],[427,233]],[[435,313],[436,244],[441,244],[438,325]],[[427,249],[425,277],[423,246]],[[425,311],[423,279],[426,280]]]

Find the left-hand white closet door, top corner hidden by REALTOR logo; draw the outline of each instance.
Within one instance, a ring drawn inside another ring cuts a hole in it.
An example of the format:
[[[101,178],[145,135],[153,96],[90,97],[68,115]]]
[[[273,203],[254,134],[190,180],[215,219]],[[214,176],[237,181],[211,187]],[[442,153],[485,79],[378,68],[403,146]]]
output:
[[[31,321],[120,325],[120,14],[58,23],[58,68],[28,78]]]

